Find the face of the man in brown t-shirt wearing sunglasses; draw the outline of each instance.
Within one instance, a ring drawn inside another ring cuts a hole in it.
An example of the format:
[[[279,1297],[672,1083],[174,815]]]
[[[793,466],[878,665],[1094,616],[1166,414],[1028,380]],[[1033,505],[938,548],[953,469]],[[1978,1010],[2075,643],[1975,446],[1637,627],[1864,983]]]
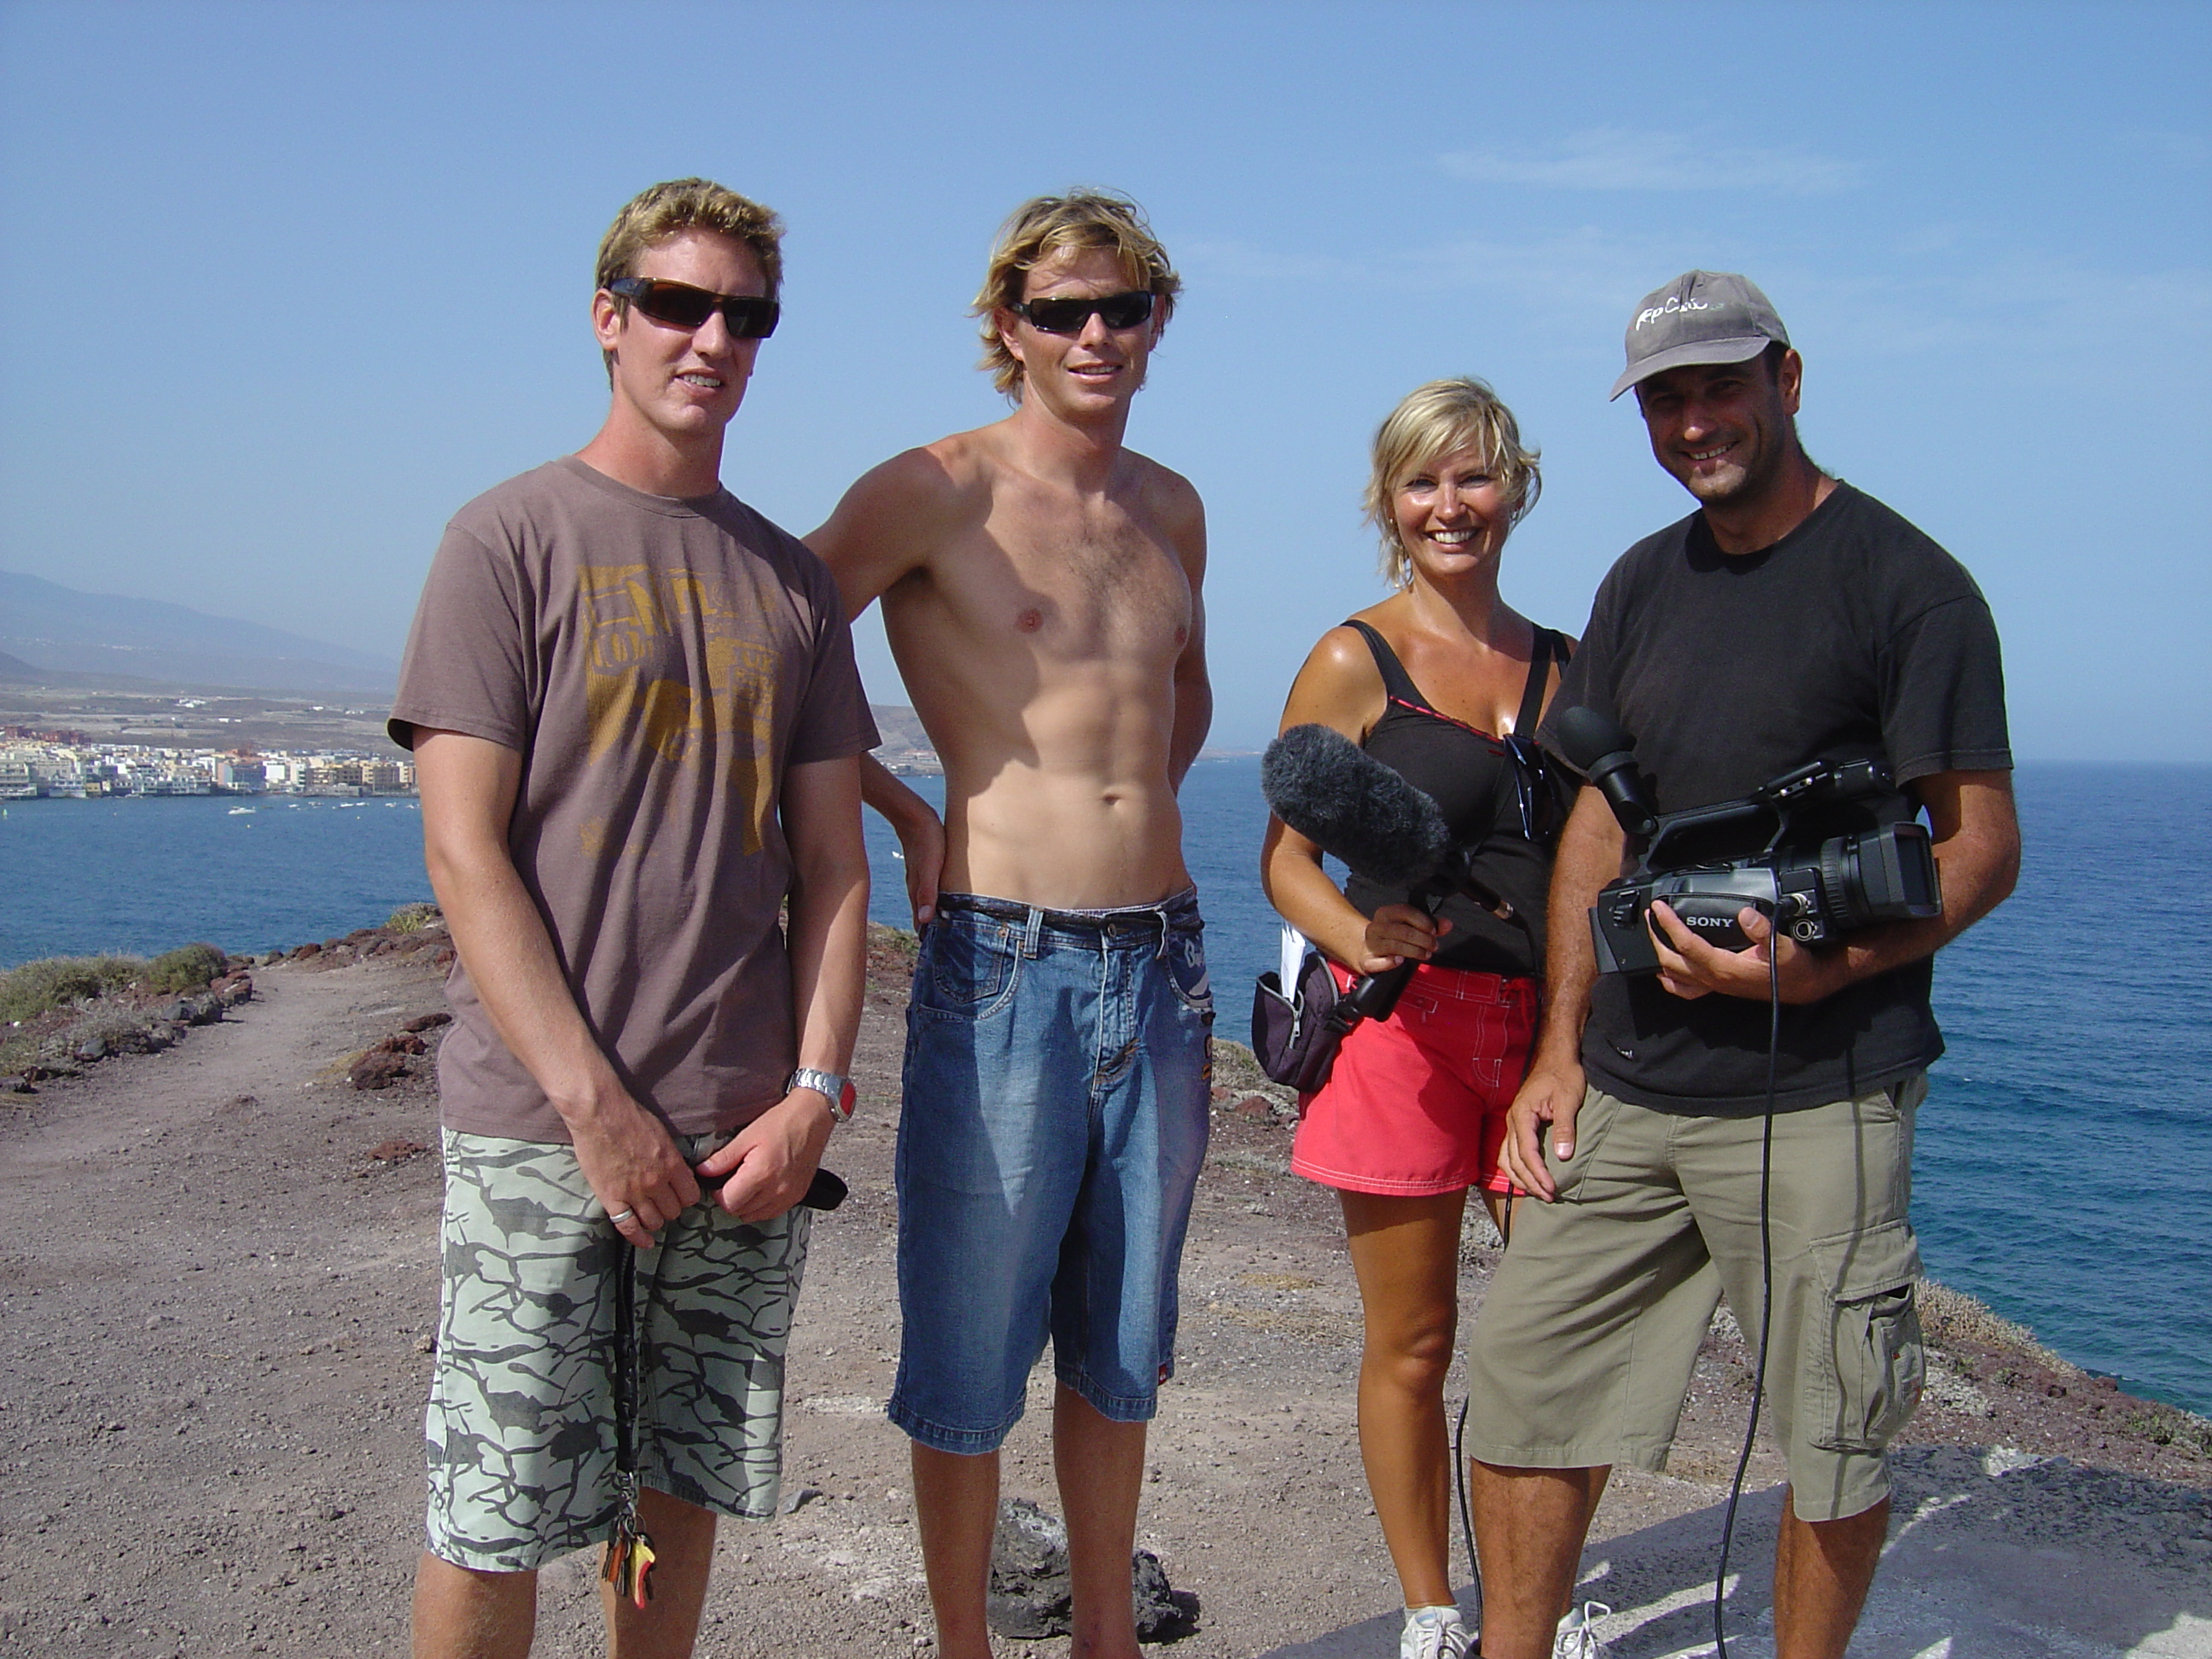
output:
[[[768,294],[759,257],[714,230],[684,230],[637,259],[637,276],[690,283],[717,294]],[[714,312],[695,330],[655,323],[617,305],[604,288],[591,301],[593,332],[615,387],[611,425],[646,429],[684,451],[721,453],[721,431],[745,400],[759,341],[739,341]]]

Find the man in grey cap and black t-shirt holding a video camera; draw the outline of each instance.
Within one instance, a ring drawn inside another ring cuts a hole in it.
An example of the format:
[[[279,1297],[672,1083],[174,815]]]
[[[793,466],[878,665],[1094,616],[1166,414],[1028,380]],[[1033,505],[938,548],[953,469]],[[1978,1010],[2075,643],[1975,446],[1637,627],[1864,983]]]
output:
[[[1692,270],[1637,307],[1613,396],[1635,387],[1652,456],[1699,507],[1613,566],[1553,710],[1619,721],[1661,812],[1814,759],[1882,761],[1905,792],[1891,816],[1927,814],[1944,907],[1816,949],[1747,907],[1752,942],[1730,951],[1655,905],[1659,973],[1599,975],[1586,914],[1628,847],[1582,790],[1504,1155],[1544,1203],[1469,1340],[1486,1659],[1599,1652],[1604,1608],[1568,1610],[1584,1533],[1613,1464],[1666,1467],[1723,1294],[1756,1347],[1763,1210],[1767,1422],[1790,1471],[1776,1659],[1843,1655],[1887,1533],[1885,1447],[1922,1380],[1907,1197],[1942,1053],[1931,958],[2011,891],[2020,832],[1989,606],[1814,465],[1803,374],[1743,276]],[[1553,719],[1540,739],[1557,748]]]

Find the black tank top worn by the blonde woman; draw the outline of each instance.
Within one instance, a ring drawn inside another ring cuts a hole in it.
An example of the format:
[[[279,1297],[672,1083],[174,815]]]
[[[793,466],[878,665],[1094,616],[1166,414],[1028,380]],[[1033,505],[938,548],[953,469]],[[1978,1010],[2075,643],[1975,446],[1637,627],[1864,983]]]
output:
[[[1367,639],[1367,650],[1374,653],[1376,668],[1383,670],[1387,697],[1383,719],[1367,732],[1360,748],[1442,807],[1453,841],[1469,849],[1475,880],[1513,907],[1513,916],[1502,918],[1486,905],[1453,894],[1438,909],[1440,918],[1451,920],[1451,931],[1444,933],[1433,960],[1440,967],[1480,973],[1540,975],[1544,971],[1544,896],[1551,889],[1553,836],[1531,841],[1522,832],[1515,768],[1504,743],[1436,712],[1380,633],[1365,622],[1347,622],[1345,626],[1358,628]],[[1515,721],[1517,732],[1535,734],[1551,664],[1557,659],[1564,668],[1566,657],[1564,635],[1551,628],[1535,630],[1528,686],[1522,692],[1520,719]],[[1537,787],[1551,785],[1540,783]],[[1557,823],[1557,812],[1553,812],[1553,823]],[[1374,916],[1383,905],[1409,902],[1405,887],[1387,887],[1360,876],[1345,883],[1345,898],[1360,916]]]

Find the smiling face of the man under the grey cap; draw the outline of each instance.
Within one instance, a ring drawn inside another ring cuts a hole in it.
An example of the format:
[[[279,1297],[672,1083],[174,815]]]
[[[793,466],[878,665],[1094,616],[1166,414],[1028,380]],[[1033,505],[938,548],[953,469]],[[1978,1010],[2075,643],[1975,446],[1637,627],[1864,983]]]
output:
[[[1705,507],[1745,507],[1772,491],[1798,453],[1805,365],[1783,352],[1745,363],[1666,369],[1637,385],[1652,456]]]

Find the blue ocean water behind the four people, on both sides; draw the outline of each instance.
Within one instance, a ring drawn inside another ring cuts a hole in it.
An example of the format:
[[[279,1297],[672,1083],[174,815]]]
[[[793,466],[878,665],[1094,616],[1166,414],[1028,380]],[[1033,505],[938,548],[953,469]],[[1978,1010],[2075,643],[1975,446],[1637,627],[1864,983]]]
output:
[[[933,779],[914,781],[940,799]],[[2212,891],[2212,768],[2024,765],[2026,865],[1942,953],[1949,1053],[1920,1110],[1929,1272],[2077,1365],[2212,1413],[2212,951],[2172,922]],[[429,896],[414,801],[11,801],[0,967],[186,940],[263,951]],[[1245,1035],[1276,922],[1256,759],[1183,785],[1221,1029]],[[867,821],[876,920],[909,925]]]

